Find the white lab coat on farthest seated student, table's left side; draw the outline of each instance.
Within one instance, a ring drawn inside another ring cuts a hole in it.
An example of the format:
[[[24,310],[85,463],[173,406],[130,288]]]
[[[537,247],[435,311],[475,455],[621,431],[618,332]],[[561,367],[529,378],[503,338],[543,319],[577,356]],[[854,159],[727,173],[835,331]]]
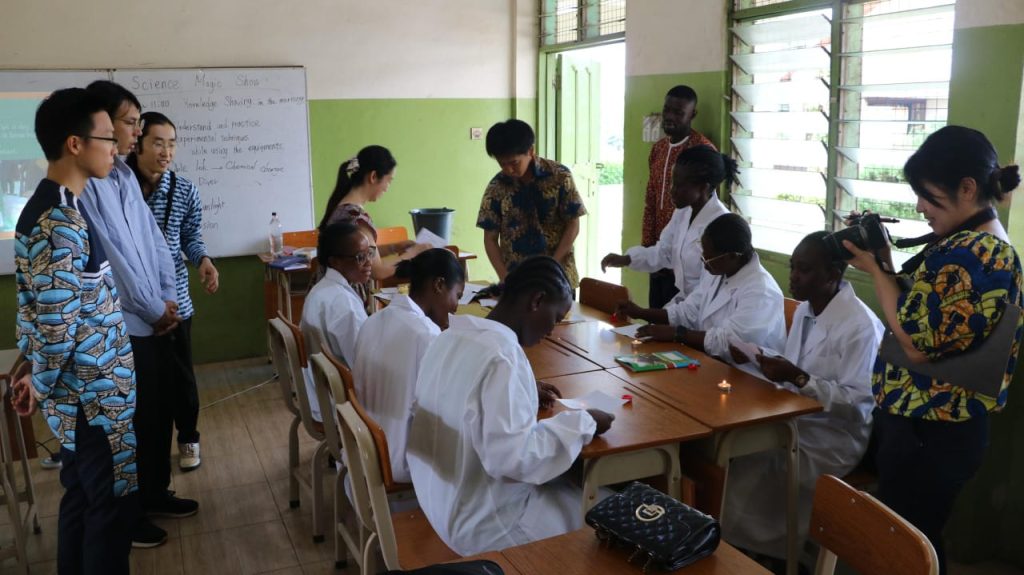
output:
[[[302,339],[307,343],[306,353],[318,353],[319,346],[325,346],[335,357],[352,365],[355,339],[366,320],[367,309],[362,298],[343,275],[328,268],[324,277],[306,295],[302,306],[299,328],[302,329]],[[304,369],[303,377],[306,381],[306,395],[309,396],[309,410],[313,418],[321,422],[323,418],[319,401],[316,400],[316,387],[308,367]]]

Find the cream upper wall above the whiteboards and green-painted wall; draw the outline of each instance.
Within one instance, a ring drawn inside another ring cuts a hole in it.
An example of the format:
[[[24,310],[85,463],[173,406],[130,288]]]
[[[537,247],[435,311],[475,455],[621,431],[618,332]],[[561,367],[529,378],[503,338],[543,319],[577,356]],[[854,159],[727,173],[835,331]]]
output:
[[[534,97],[537,6],[538,0],[5,0],[0,67],[304,65],[314,99]]]

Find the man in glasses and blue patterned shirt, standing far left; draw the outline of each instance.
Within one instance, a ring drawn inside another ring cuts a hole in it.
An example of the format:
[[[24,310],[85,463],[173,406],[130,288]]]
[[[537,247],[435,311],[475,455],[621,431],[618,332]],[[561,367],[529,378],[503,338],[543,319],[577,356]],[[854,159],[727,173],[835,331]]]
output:
[[[27,361],[11,403],[22,415],[41,405],[60,442],[57,571],[127,574],[138,516],[134,359],[111,267],[79,204],[88,179],[114,166],[114,124],[85,90],[58,90],[36,113],[36,137],[49,166],[15,228]]]

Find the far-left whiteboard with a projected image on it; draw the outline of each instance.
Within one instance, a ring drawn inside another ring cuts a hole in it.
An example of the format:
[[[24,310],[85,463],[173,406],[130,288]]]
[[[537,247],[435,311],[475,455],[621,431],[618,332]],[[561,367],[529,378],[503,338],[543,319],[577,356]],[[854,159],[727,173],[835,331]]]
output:
[[[36,108],[50,92],[110,79],[106,70],[0,71],[0,273],[14,273],[14,226],[46,159],[36,141]]]

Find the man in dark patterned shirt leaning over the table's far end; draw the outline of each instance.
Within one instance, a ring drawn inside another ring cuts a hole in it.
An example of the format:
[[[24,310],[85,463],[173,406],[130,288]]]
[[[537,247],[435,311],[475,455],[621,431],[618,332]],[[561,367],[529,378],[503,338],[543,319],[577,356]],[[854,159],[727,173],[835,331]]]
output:
[[[502,171],[483,192],[476,227],[483,229],[483,246],[499,281],[530,256],[551,256],[575,290],[580,274],[572,242],[587,209],[569,169],[538,158],[534,141],[534,130],[520,120],[500,122],[487,131],[487,154]]]

